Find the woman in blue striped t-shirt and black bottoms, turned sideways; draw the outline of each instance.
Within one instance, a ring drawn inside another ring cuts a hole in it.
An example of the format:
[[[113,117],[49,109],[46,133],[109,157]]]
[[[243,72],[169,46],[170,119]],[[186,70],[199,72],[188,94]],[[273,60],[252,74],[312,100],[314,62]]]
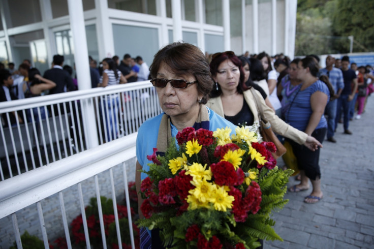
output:
[[[327,121],[325,107],[334,90],[327,78],[317,77],[319,65],[314,57],[307,56],[298,63],[297,78],[302,85],[291,100],[286,113],[286,122],[309,136],[315,137],[321,144],[326,136]],[[313,190],[305,197],[305,203],[316,203],[323,197],[321,190],[321,170],[319,166],[320,150],[311,151],[303,146],[290,142],[297,165],[300,169],[301,182],[292,186],[290,192],[300,192],[309,189],[309,179]]]

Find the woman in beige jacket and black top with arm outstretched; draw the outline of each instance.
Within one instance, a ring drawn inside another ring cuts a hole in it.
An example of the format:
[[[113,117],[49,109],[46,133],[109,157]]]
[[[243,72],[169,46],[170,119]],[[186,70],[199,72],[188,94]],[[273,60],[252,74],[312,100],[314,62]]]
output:
[[[276,116],[275,112],[265,104],[260,93],[256,90],[250,90],[243,83],[243,67],[234,52],[226,51],[213,54],[210,72],[215,83],[207,106],[214,112],[235,125],[245,123],[247,126],[252,126],[255,121],[258,121],[258,114],[260,114],[261,118],[270,122],[275,133],[303,144],[313,151],[318,149],[318,146],[322,147],[321,143],[314,137],[293,128]],[[261,103],[259,109],[255,98],[258,103]]]

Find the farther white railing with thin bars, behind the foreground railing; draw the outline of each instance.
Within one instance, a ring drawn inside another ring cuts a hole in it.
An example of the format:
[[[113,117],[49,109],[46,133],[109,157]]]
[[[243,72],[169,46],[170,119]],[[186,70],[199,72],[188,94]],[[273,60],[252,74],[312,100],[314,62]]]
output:
[[[137,132],[160,113],[149,81],[2,102],[1,180]]]

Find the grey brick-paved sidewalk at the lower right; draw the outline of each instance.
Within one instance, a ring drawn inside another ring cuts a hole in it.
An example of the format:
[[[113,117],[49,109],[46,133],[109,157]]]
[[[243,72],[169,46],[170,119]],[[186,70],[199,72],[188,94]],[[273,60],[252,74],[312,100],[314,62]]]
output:
[[[264,248],[374,248],[374,96],[361,119],[350,121],[353,135],[338,124],[337,143],[324,141],[320,155],[324,198],[306,204],[310,192],[287,193],[289,203],[273,218],[284,239]],[[283,166],[282,160],[278,162]],[[288,186],[298,183],[290,178]]]

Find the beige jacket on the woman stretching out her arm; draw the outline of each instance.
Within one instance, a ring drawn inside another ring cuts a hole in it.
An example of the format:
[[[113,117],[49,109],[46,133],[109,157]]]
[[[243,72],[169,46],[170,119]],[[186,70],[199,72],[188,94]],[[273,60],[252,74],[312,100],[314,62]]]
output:
[[[281,118],[279,118],[277,115],[275,115],[274,111],[270,109],[266,104],[264,99],[262,98],[259,91],[255,91],[257,95],[257,99],[260,100],[262,105],[263,113],[261,113],[261,117],[266,119],[271,124],[271,129],[284,137],[287,137],[298,144],[303,144],[306,141],[306,138],[308,135],[302,131],[297,130],[296,128],[293,128],[289,124],[287,124],[285,121],[283,121]],[[253,116],[255,118],[254,121],[259,120],[258,110],[256,108],[256,102],[253,99],[254,96],[252,94],[251,90],[246,90],[243,92],[244,100],[250,107]],[[210,109],[212,109],[215,113],[219,114],[222,117],[225,117],[224,114],[224,107],[222,105],[221,97],[216,97],[209,99],[208,103],[206,104]]]

